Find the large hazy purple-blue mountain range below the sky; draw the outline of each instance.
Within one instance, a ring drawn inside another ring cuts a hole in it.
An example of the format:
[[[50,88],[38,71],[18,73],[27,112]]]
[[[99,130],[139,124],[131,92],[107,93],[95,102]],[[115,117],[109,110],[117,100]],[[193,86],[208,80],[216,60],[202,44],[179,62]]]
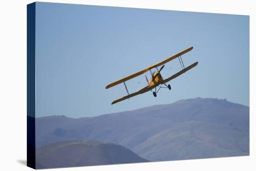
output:
[[[184,99],[98,117],[36,118],[36,144],[91,139],[123,145],[150,161],[249,155],[249,107]]]

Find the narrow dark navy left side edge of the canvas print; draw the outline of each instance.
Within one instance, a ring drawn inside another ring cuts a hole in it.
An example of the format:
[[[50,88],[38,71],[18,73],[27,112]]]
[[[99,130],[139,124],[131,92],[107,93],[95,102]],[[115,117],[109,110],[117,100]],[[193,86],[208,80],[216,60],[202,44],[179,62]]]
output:
[[[27,5],[27,166],[35,169],[35,2]]]

